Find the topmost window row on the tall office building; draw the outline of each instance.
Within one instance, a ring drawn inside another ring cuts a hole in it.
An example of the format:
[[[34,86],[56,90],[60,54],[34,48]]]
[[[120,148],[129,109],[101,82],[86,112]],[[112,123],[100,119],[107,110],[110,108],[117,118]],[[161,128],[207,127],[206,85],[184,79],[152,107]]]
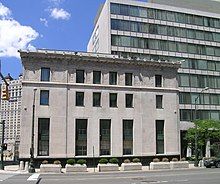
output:
[[[183,24],[220,28],[220,19],[192,14],[111,3],[111,14],[159,19]]]

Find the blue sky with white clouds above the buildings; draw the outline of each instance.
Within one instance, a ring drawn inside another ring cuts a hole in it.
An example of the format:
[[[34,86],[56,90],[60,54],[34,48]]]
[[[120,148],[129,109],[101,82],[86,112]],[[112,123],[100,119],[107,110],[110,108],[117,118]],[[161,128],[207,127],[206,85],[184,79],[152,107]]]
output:
[[[86,51],[93,21],[105,0],[0,0],[1,71],[22,73],[18,48]]]

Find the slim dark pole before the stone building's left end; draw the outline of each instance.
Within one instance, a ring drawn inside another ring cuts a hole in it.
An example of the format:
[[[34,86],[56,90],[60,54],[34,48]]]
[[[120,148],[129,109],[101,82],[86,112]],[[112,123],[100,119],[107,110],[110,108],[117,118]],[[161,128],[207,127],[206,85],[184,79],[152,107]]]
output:
[[[30,148],[30,165],[29,165],[29,173],[34,173],[34,115],[35,115],[35,95],[37,88],[34,88],[34,98],[33,98],[33,106],[32,106],[32,126],[31,126],[31,148]]]

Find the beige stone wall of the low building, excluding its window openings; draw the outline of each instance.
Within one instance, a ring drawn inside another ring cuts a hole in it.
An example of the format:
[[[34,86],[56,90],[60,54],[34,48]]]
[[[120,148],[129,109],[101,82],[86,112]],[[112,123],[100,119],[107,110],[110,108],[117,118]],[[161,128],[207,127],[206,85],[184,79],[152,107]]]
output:
[[[111,120],[109,157],[123,157],[123,120],[133,120],[132,156],[156,155],[156,120],[164,120],[164,153],[179,155],[177,70],[179,63],[134,61],[113,55],[37,50],[20,51],[24,66],[20,158],[30,157],[32,105],[35,103],[34,157],[100,157],[100,119]],[[42,67],[50,68],[50,81],[41,81]],[[84,83],[76,83],[76,70],[84,70]],[[93,84],[93,71],[101,71],[101,84]],[[117,84],[109,85],[109,72]],[[132,86],[125,86],[132,73]],[[155,75],[162,87],[155,87]],[[34,89],[36,99],[34,98]],[[49,105],[40,105],[41,90],[49,90]],[[76,92],[84,92],[84,105],[75,106]],[[93,107],[93,92],[101,92],[100,107]],[[109,93],[117,93],[117,107],[109,107]],[[125,107],[125,94],[133,94],[133,107]],[[163,108],[156,109],[156,95]],[[49,155],[39,156],[38,119],[49,118]],[[76,155],[76,119],[87,119],[87,154]],[[94,154],[93,154],[94,149]]]

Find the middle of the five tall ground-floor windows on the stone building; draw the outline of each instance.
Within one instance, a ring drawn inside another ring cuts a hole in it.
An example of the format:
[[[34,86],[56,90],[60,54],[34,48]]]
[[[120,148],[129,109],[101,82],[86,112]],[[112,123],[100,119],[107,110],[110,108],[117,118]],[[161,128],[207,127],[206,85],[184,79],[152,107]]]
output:
[[[111,120],[100,119],[100,155],[111,154]]]

